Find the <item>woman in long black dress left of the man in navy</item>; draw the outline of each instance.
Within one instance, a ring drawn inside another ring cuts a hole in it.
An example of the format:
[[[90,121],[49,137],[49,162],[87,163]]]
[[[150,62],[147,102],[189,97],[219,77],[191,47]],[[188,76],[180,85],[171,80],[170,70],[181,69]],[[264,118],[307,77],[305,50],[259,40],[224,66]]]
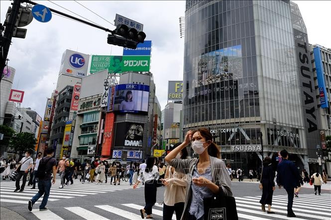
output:
[[[262,204],[262,211],[265,212],[265,205],[268,204],[268,214],[274,214],[271,211],[272,195],[275,190],[275,171],[272,167],[271,158],[266,156],[263,160],[263,170],[261,183],[263,186],[262,197],[260,203]]]

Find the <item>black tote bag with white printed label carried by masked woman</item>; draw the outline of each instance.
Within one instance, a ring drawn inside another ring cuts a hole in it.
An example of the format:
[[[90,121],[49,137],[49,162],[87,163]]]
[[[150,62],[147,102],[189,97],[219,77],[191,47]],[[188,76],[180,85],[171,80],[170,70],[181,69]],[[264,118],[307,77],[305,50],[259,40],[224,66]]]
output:
[[[204,199],[204,220],[238,220],[234,197],[224,193]]]

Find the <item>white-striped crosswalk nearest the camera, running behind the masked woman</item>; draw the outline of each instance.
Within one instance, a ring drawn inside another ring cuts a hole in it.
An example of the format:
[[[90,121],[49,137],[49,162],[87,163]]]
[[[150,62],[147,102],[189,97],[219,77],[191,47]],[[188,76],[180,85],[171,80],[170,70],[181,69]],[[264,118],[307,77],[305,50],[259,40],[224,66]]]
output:
[[[330,220],[331,219],[331,194],[315,196],[314,194],[299,195],[294,199],[293,211],[296,214],[296,220]],[[287,195],[277,195],[273,197],[271,210],[275,214],[267,214],[261,211],[259,203],[260,196],[235,197],[238,217],[240,220],[271,220],[271,219],[291,219],[287,218]],[[65,207],[75,217],[70,219],[99,219],[99,220],[140,220],[139,210],[144,207],[143,203],[139,204],[115,204],[115,205],[95,205],[89,207]],[[156,203],[153,207],[153,219],[161,220],[163,205]],[[32,213],[39,220],[63,220],[61,209],[50,209],[40,212],[35,209]],[[176,220],[176,216],[172,216]]]

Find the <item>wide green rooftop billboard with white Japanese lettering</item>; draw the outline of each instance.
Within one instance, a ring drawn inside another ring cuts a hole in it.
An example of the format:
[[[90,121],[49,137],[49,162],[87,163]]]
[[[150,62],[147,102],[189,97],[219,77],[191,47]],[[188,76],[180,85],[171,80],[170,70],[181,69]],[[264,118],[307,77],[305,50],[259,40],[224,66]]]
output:
[[[149,72],[150,56],[92,55],[90,73],[108,69],[109,73]]]

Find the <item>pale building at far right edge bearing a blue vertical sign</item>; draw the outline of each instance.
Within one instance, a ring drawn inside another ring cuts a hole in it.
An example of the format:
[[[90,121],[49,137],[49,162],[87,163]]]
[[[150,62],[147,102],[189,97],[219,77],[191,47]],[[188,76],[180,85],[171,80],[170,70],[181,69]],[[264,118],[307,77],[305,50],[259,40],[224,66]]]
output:
[[[314,72],[315,94],[317,99],[318,117],[320,118],[320,137],[322,159],[331,160],[327,151],[326,137],[331,135],[331,49],[321,45],[310,45],[312,68]],[[315,160],[318,166],[319,161]],[[326,162],[324,167],[329,173],[331,162]]]

